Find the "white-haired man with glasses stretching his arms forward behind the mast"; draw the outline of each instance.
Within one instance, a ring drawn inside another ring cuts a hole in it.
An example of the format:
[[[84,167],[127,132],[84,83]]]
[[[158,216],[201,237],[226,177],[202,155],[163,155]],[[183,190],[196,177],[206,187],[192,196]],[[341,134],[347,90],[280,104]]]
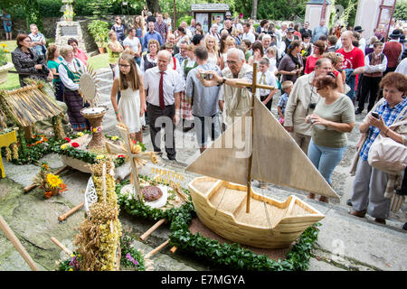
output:
[[[251,107],[251,92],[246,87],[237,84],[239,81],[251,82],[253,69],[246,63],[243,51],[230,48],[226,54],[226,64],[222,70],[222,76],[215,71],[208,73],[213,75],[212,79],[201,79],[204,86],[212,87],[223,85],[219,98],[219,107],[223,111],[223,123],[232,126],[234,117],[241,117]]]

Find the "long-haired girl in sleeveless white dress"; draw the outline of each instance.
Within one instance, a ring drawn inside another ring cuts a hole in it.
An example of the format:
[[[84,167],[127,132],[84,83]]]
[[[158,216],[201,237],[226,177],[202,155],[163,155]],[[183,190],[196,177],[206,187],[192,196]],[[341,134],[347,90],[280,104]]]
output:
[[[132,139],[143,143],[143,125],[146,125],[144,113],[146,110],[146,95],[143,77],[137,70],[136,61],[131,55],[122,54],[118,60],[120,73],[113,80],[110,100],[115,110],[116,119],[128,126]],[[117,102],[116,95],[120,90],[121,97]]]

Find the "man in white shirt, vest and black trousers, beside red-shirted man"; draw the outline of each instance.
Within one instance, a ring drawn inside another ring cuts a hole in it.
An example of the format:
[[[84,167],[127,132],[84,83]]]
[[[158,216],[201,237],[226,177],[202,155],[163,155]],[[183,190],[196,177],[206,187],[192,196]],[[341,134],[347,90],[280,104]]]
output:
[[[370,93],[367,111],[374,107],[374,101],[379,92],[379,83],[383,78],[383,72],[387,67],[387,57],[383,54],[383,42],[374,43],[374,51],[364,58],[364,77],[362,78],[361,94],[359,96],[359,107],[355,114],[359,115],[364,111],[364,102]]]

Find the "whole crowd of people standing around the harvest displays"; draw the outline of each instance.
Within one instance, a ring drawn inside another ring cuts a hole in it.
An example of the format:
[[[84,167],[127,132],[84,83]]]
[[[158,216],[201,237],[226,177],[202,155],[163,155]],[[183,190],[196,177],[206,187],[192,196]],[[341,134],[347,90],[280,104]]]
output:
[[[165,128],[169,160],[176,159],[178,123],[184,131],[194,128],[203,153],[208,139],[216,139],[249,111],[251,91],[239,83],[252,81],[254,63],[258,83],[275,88],[257,89],[257,97],[271,111],[273,98],[280,95],[275,117],[329,184],[344,156],[346,133],[354,129],[355,115],[364,113],[368,102],[348,204],[354,208],[352,215],[363,217],[367,212],[385,223],[390,199],[383,191],[389,179],[367,163],[367,154],[379,134],[406,144],[403,129],[389,127],[404,117],[407,105],[407,28],[394,27],[384,42],[381,30],[364,40],[361,26],[328,29],[324,20],[313,31],[307,22],[282,23],[278,29],[268,20],[255,29],[251,21],[241,23],[227,13],[204,32],[194,19],[190,25],[184,21],[175,27],[168,14],[153,16],[145,9],[131,25],[124,25],[119,16],[115,21],[108,51],[117,120],[140,142],[143,130],[149,129],[157,154],[162,154],[159,132]],[[62,48],[50,45],[46,50],[43,35],[35,25],[30,28],[32,33],[17,36],[18,48],[12,53],[16,70],[22,72],[22,86],[26,74],[52,79],[56,98],[68,106],[73,129],[88,129],[79,114],[77,83],[80,71],[86,70],[86,54],[74,39]],[[46,60],[41,57],[45,53]],[[373,111],[379,118],[372,116]],[[405,181],[403,186],[405,193]],[[316,196],[309,193],[308,198]],[[318,200],[329,201],[324,196]]]

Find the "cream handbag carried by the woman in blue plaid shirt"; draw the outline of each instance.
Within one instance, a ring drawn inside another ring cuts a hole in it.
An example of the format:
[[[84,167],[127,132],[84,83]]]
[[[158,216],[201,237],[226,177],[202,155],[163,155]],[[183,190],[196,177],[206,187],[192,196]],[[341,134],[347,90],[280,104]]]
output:
[[[393,124],[404,115],[405,109],[402,109],[401,114],[394,120]],[[406,121],[403,121],[403,123]],[[392,124],[392,126],[393,126]],[[394,129],[389,126],[389,129]],[[397,174],[402,172],[407,166],[407,147],[404,144],[399,144],[391,137],[377,135],[374,143],[367,154],[367,162],[383,172]]]

